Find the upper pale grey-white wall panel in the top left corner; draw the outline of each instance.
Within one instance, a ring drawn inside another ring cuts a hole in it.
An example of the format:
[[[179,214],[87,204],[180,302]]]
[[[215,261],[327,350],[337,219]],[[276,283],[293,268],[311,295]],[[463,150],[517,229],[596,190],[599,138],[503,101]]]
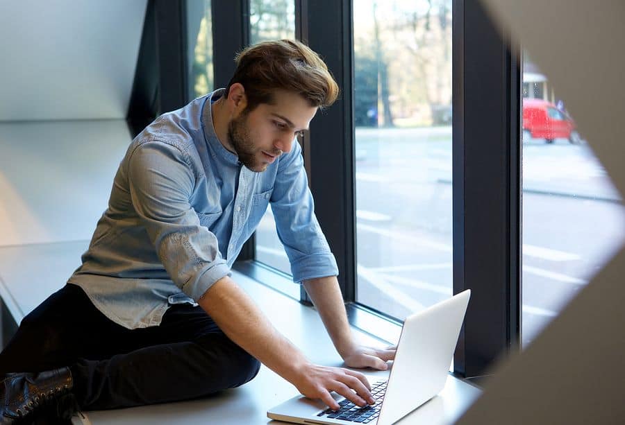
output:
[[[147,0],[0,2],[0,121],[123,119]]]

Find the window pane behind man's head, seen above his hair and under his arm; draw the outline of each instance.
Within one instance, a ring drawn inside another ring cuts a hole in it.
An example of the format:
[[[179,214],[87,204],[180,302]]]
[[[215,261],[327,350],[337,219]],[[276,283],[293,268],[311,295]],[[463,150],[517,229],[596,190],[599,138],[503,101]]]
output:
[[[295,38],[295,3],[294,0],[251,0],[250,39],[251,44],[281,38]],[[256,229],[256,260],[291,274],[291,266],[276,232],[276,222],[271,208],[260,220]],[[299,286],[279,290],[288,292],[299,300]]]

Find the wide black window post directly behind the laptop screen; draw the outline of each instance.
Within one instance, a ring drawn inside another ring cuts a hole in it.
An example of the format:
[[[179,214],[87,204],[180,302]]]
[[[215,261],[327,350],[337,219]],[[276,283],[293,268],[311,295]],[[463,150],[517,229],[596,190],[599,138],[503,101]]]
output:
[[[453,293],[472,290],[454,367],[469,377],[520,344],[522,81],[480,1],[454,0],[452,16]]]

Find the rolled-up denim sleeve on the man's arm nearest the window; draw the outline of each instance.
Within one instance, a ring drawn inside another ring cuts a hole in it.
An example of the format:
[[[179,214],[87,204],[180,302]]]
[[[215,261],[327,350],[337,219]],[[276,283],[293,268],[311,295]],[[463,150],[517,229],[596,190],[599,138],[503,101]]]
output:
[[[334,254],[317,217],[303,167],[301,147],[294,142],[278,164],[271,198],[278,238],[291,264],[293,281],[338,275]]]

